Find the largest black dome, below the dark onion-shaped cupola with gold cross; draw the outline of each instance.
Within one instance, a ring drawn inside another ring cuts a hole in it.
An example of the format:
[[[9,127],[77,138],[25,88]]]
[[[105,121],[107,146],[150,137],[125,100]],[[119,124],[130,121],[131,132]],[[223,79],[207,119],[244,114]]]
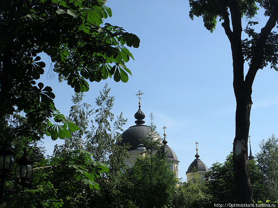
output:
[[[122,141],[119,145],[130,144],[131,147],[128,150],[136,150],[137,145],[144,144],[144,140],[150,137],[150,130],[150,126],[142,124],[131,126],[122,133]],[[157,139],[161,140],[161,137],[158,135]]]

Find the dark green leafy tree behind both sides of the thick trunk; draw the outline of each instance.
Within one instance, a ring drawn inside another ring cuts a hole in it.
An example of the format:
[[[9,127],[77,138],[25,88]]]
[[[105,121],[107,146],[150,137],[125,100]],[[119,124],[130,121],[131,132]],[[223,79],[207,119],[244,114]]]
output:
[[[249,165],[254,199],[255,201],[264,201],[268,199],[267,184],[263,180],[263,174],[259,169],[260,164],[257,164],[256,161],[249,160]],[[212,203],[236,202],[236,190],[234,181],[232,180],[234,177],[232,153],[226,157],[224,163],[214,163],[209,168],[205,177],[208,194],[213,199]],[[210,204],[210,206],[213,206],[213,204]]]

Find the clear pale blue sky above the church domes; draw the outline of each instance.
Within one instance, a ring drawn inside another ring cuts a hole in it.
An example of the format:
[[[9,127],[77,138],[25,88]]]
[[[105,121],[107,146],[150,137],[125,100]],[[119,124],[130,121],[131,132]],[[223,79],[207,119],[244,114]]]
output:
[[[140,47],[130,49],[135,61],[127,63],[133,74],[128,83],[116,83],[110,78],[91,83],[85,101],[94,106],[99,90],[108,82],[111,95],[116,98],[113,112],[124,113],[128,118],[124,127],[127,129],[134,125],[138,110],[135,94],[141,90],[144,120],[148,124],[148,115],[153,112],[161,136],[162,127],[167,127],[168,145],[180,161],[179,176],[184,179],[195,159],[196,141],[200,159],[208,168],[216,161],[225,161],[233,147],[236,104],[230,43],[221,25],[217,24],[211,34],[201,18],[192,21],[187,1],[108,0],[106,5],[113,15],[104,22],[136,34],[141,40]],[[262,15],[257,19],[264,23]],[[50,59],[44,60],[49,67]],[[54,80],[46,75],[41,80],[53,88],[56,107],[68,115],[74,89],[66,82],[58,83],[57,75]],[[253,155],[259,151],[263,138],[272,133],[278,136],[277,80],[278,72],[267,67],[258,71],[253,84],[250,118]],[[62,142],[46,138],[47,153],[51,155],[54,145]]]

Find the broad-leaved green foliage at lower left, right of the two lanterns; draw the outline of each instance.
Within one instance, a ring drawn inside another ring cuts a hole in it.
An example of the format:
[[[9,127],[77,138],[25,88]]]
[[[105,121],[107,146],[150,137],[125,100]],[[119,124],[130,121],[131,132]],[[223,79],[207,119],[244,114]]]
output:
[[[91,153],[84,149],[69,152],[63,158],[42,159],[33,170],[23,202],[20,196],[6,195],[4,206],[70,207],[70,199],[82,197],[86,189],[99,189],[96,178],[109,172],[107,165],[93,161]]]

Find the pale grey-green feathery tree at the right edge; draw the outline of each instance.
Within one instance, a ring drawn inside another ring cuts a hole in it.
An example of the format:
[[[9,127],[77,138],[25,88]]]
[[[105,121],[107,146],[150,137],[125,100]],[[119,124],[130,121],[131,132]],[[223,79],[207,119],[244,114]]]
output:
[[[267,184],[267,199],[278,200],[278,139],[272,135],[261,142],[260,151],[256,154],[259,169]]]

